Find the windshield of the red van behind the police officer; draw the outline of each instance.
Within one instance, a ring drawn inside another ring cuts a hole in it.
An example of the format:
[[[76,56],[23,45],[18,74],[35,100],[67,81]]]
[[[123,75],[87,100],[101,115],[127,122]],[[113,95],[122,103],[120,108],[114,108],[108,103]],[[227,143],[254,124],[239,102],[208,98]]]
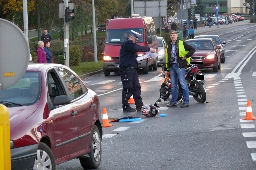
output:
[[[139,37],[137,42],[143,42],[144,34],[142,28],[125,28],[125,29],[111,29],[107,30],[106,44],[121,44],[126,37],[129,36],[131,30],[136,31],[142,36]]]

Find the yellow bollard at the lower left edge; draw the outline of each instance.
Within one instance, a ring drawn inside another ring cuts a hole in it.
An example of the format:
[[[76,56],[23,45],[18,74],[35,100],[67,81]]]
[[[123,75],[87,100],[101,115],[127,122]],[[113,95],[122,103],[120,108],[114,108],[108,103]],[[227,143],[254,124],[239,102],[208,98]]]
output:
[[[7,107],[0,104],[0,170],[11,169],[10,120]]]

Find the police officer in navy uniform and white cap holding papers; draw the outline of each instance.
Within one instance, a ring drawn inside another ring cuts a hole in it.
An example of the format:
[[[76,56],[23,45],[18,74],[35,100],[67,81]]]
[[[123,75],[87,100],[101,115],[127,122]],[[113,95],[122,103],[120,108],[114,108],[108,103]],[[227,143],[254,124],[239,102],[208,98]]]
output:
[[[131,30],[129,36],[123,40],[120,48],[120,58],[119,58],[119,73],[121,76],[121,81],[123,83],[123,93],[122,93],[122,104],[123,112],[134,112],[135,109],[130,107],[128,100],[133,95],[135,101],[136,110],[141,111],[143,106],[141,94],[141,86],[139,84],[139,77],[137,73],[138,61],[136,52],[150,51],[155,52],[154,48],[149,48],[146,46],[141,46],[136,44],[139,37],[142,34]]]

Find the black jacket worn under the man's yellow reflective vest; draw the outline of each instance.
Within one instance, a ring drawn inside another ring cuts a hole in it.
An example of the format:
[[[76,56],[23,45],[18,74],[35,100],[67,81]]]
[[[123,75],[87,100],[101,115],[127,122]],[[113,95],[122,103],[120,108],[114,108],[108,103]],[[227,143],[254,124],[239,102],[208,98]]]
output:
[[[176,42],[175,42],[175,47],[176,47],[176,55],[177,55],[177,60],[178,60],[178,66],[179,68],[182,68],[182,67],[185,67],[187,66],[187,61],[186,60],[182,60],[181,57],[179,57],[179,47],[178,47],[178,43],[179,43],[179,40],[177,39]],[[183,41],[183,45],[184,45],[184,49],[186,51],[188,51],[188,53],[186,54],[186,58],[188,57],[191,57],[195,52],[195,48],[192,47],[191,45],[188,45],[186,42]],[[171,57],[171,54],[172,54],[172,41],[169,42],[168,44],[168,48],[167,48],[167,54],[168,54],[168,60],[169,58]],[[164,71],[167,71],[169,70],[169,68],[167,69],[166,66],[164,67]]]

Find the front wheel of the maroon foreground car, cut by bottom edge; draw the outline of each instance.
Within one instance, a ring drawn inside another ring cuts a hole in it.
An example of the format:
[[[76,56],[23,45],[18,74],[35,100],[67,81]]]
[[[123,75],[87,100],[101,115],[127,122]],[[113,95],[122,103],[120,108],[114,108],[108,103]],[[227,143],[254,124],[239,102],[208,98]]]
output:
[[[49,165],[50,163],[50,165]],[[39,168],[40,167],[40,168]],[[39,142],[33,170],[51,169],[55,170],[55,158],[51,149],[43,142]]]

